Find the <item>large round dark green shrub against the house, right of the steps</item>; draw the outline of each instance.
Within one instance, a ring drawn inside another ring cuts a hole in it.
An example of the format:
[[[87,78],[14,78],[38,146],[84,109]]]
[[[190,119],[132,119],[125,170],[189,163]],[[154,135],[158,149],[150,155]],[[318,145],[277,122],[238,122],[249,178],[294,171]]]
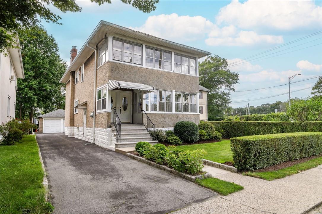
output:
[[[175,124],[174,133],[184,142],[194,143],[199,139],[198,126],[191,121],[180,121]]]

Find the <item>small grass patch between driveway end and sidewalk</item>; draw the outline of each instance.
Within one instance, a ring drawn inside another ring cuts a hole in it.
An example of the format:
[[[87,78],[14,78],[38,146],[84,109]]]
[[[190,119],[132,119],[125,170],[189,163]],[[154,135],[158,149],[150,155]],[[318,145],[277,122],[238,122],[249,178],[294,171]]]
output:
[[[223,181],[218,178],[205,178],[203,180],[197,179],[196,183],[221,195],[228,195],[244,189],[244,187],[242,187],[241,185]]]

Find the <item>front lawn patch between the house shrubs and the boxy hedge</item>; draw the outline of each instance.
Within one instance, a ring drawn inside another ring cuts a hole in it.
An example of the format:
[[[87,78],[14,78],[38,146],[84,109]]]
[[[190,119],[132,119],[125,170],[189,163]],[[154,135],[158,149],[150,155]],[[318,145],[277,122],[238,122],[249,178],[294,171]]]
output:
[[[218,163],[233,162],[232,150],[230,149],[230,140],[222,140],[220,142],[214,143],[184,145],[177,147],[183,150],[195,150],[198,148],[204,149],[207,152],[207,154],[204,156],[204,159]]]

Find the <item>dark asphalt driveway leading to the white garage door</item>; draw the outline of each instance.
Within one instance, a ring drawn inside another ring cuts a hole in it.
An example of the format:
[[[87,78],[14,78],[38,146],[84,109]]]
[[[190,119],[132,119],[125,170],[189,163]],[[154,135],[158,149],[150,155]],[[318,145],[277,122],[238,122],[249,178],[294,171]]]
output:
[[[62,134],[37,134],[54,213],[167,213],[216,193]]]

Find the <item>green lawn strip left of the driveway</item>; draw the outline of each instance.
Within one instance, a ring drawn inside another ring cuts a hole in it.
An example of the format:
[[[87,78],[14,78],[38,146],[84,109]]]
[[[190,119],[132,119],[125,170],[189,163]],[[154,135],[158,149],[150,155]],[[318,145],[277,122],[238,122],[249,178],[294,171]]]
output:
[[[52,212],[52,205],[45,201],[44,172],[35,136],[26,135],[22,143],[0,146],[0,156],[0,212]]]

